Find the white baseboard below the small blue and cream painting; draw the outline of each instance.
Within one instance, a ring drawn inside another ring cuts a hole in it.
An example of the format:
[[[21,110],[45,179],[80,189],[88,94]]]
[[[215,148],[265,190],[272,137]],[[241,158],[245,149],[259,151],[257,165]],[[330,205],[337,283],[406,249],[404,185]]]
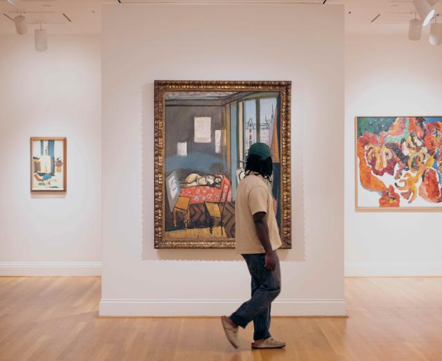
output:
[[[101,262],[0,262],[0,276],[99,276]]]

